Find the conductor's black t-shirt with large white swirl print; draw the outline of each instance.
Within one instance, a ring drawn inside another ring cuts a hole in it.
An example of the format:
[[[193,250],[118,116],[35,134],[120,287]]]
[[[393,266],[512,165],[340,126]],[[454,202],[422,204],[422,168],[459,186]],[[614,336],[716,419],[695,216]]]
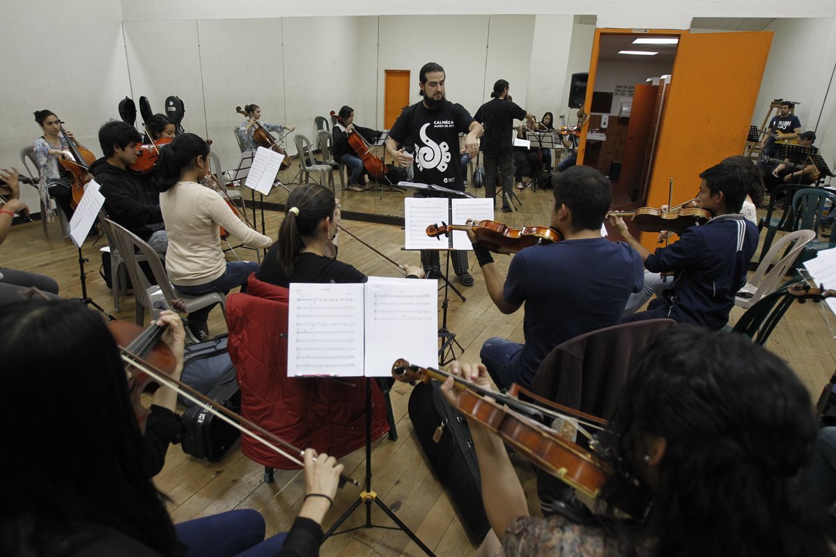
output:
[[[400,113],[389,136],[397,143],[408,138],[415,142],[415,182],[464,191],[459,133],[467,133],[472,122],[461,104],[445,100],[439,109],[431,110],[421,101]]]

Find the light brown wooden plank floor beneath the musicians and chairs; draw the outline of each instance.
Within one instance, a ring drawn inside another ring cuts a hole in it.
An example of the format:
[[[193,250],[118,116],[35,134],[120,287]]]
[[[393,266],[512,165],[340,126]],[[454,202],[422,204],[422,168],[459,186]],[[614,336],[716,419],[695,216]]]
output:
[[[526,224],[548,223],[550,197],[550,191],[535,194],[526,190],[521,194],[528,215]],[[514,224],[515,219],[512,215],[497,213],[497,218],[502,216],[510,217],[508,224]],[[268,235],[275,238],[281,215],[268,212],[266,220]],[[400,251],[403,244],[403,231],[400,228],[364,222],[345,224],[354,234],[360,235],[395,260],[418,264],[416,253]],[[88,291],[94,301],[104,306],[106,311],[112,312],[110,290],[99,276],[99,247],[103,245],[104,240],[94,244],[93,239],[84,244],[84,256],[90,259],[86,266]],[[252,251],[239,253],[242,258],[254,258]],[[348,237],[342,238],[339,254],[342,261],[356,266],[366,274],[396,276],[395,269]],[[80,294],[78,252],[69,240],[62,237],[57,222],[49,225],[48,235],[43,235],[38,222],[13,227],[3,244],[2,261],[3,265],[53,276],[59,281],[63,296],[73,297]],[[497,257],[497,263],[503,270],[507,268],[508,261],[509,257]],[[463,349],[463,353],[456,349],[456,357],[465,361],[478,359],[482,342],[488,337],[499,336],[523,341],[523,311],[517,311],[510,316],[502,315],[487,296],[482,273],[477,269],[473,257],[471,265],[474,268],[476,285],[461,288],[467,297],[466,302],[451,292],[447,321],[449,329],[456,333],[456,341]],[[440,306],[442,296],[443,291],[439,296]],[[732,322],[740,315],[742,311],[735,308],[732,312]],[[133,320],[133,296],[123,298],[122,311],[115,313],[115,316]],[[832,322],[836,322],[832,315],[830,318]],[[220,311],[213,312],[210,329],[213,335],[226,331]],[[772,334],[767,347],[793,367],[812,396],[818,396],[818,392],[836,367],[836,342],[833,342],[818,304],[791,306]],[[392,392],[400,438],[396,442],[383,438],[374,444],[372,487],[380,500],[389,505],[436,554],[471,554],[475,546],[467,539],[450,499],[421,457],[412,424],[406,415],[410,388],[408,385],[397,385]],[[745,393],[742,393],[742,396],[745,396]],[[364,450],[360,449],[350,454],[343,458],[342,462],[345,463],[349,475],[363,479]],[[515,465],[529,494],[529,507],[533,514],[538,514],[532,468],[522,458],[517,458]],[[243,457],[237,445],[220,463],[206,463],[187,457],[182,453],[180,446],[174,446],[169,450],[165,468],[155,481],[162,492],[171,499],[169,509],[176,522],[228,509],[252,508],[264,515],[267,519],[268,534],[274,534],[288,529],[292,524],[302,502],[303,476],[299,471],[278,472],[273,484],[264,484],[262,476],[263,468]],[[325,527],[348,509],[358,496],[359,489],[341,489],[334,509],[326,519]],[[364,519],[364,510],[359,509],[351,516],[346,527],[364,524]],[[376,508],[372,512],[372,519],[375,524],[391,525],[385,515]],[[405,534],[395,530],[359,529],[326,540],[322,554],[420,555],[422,552]]]

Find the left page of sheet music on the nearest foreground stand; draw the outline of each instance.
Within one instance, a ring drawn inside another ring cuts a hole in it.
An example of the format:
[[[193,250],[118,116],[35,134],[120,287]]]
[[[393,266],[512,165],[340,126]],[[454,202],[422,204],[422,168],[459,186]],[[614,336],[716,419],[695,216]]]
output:
[[[290,285],[288,377],[363,375],[364,286]]]

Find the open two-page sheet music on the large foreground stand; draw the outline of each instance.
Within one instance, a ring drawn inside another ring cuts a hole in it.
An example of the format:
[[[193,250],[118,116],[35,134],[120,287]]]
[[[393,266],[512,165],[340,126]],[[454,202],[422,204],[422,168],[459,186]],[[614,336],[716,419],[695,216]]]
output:
[[[438,365],[436,281],[290,285],[288,377],[391,377],[398,358]]]

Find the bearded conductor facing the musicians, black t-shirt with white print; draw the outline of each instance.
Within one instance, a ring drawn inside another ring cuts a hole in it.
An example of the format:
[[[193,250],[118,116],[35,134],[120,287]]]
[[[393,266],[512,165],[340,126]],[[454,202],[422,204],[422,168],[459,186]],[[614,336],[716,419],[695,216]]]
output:
[[[464,191],[458,149],[459,133],[467,134],[465,152],[475,159],[479,154],[479,138],[484,130],[482,124],[474,120],[461,104],[451,103],[445,98],[445,78],[444,68],[440,65],[434,62],[424,64],[419,73],[423,99],[400,113],[386,138],[386,152],[401,165],[413,165],[415,182]],[[414,141],[414,158],[404,149],[398,149],[398,144],[405,143],[407,139]],[[472,286],[473,277],[467,268],[467,252],[453,251],[451,255],[453,269],[461,284]],[[421,265],[424,266],[427,278],[441,276],[438,251],[422,250]]]

